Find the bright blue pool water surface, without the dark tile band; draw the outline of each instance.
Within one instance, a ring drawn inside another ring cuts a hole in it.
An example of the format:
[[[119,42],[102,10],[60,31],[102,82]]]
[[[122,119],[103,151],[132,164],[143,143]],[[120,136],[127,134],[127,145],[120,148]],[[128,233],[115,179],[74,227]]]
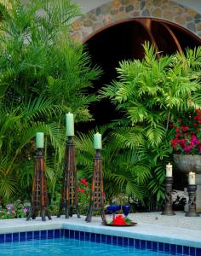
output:
[[[133,247],[121,247],[94,241],[79,241],[68,238],[54,238],[47,240],[14,241],[0,244],[0,255],[17,256],[164,256],[167,253],[158,253]]]

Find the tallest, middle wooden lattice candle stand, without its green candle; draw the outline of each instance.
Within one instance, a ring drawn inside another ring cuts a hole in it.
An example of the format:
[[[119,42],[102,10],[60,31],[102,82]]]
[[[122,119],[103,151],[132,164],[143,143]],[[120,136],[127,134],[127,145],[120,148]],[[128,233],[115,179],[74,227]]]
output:
[[[73,211],[80,218],[78,209],[78,181],[77,169],[75,162],[75,145],[72,142],[72,137],[68,137],[66,143],[66,163],[64,169],[63,186],[60,193],[60,209],[57,214],[59,218],[62,210],[65,210],[66,218],[72,217]]]

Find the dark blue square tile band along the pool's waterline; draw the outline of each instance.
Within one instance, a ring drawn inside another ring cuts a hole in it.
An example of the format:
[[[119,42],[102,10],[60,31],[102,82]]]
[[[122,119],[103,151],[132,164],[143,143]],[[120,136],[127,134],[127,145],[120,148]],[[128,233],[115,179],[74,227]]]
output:
[[[169,244],[159,241],[146,241],[129,237],[104,235],[98,233],[90,233],[78,230],[55,229],[55,230],[35,230],[26,232],[14,232],[8,234],[0,234],[0,243],[14,241],[31,241],[52,238],[71,238],[81,241],[95,241],[118,245],[123,247],[133,247],[137,249],[147,249],[160,253],[172,253],[173,255],[200,256],[201,248],[187,247],[175,244]]]

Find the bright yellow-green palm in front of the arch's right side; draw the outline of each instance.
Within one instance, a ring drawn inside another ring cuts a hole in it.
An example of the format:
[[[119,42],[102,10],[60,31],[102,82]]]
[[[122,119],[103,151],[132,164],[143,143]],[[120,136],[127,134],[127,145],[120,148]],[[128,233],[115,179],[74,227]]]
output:
[[[164,199],[164,170],[169,160],[169,122],[174,122],[189,108],[201,108],[201,47],[187,49],[159,59],[152,45],[144,44],[142,61],[121,61],[118,79],[106,85],[100,94],[109,97],[125,120],[119,129],[119,143],[133,149],[150,167],[146,185],[149,195]],[[122,134],[127,129],[127,136]],[[138,145],[137,145],[138,143]],[[132,157],[132,156],[131,156]],[[140,161],[141,161],[140,160]],[[133,169],[140,175],[141,168]]]

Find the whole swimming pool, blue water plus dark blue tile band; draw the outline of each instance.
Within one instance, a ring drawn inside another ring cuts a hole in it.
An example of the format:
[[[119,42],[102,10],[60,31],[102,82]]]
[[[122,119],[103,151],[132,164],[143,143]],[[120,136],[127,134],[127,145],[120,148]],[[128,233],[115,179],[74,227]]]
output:
[[[68,252],[70,250],[70,252]],[[152,250],[152,251],[151,251]],[[52,254],[50,254],[53,252]],[[32,253],[32,254],[31,254]],[[191,255],[201,249],[78,230],[36,230],[0,235],[1,255]],[[91,253],[91,254],[90,254]],[[108,253],[108,254],[106,254]],[[167,254],[166,254],[167,253]]]

